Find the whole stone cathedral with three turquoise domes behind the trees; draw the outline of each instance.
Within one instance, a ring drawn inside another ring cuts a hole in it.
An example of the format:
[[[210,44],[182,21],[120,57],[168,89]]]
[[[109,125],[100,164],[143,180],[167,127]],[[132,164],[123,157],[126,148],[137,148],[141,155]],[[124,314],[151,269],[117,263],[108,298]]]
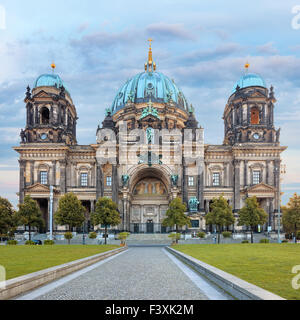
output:
[[[262,229],[276,230],[280,155],[286,147],[274,127],[274,89],[249,73],[248,64],[225,105],[220,145],[205,144],[194,108],[174,80],[157,71],[151,42],[143,72],[116,93],[89,145],[77,143],[76,107],[54,64],[52,68],[32,89],[27,87],[26,124],[14,147],[19,202],[25,195],[38,202],[46,222],[43,232],[50,227],[49,211],[55,212],[68,192],[86,208],[85,231],[93,230],[90,213],[103,196],[112,198],[120,212],[121,224],[111,229],[168,232],[162,221],[170,201],[180,197],[191,219],[187,231],[211,231],[205,215],[220,195],[235,217],[245,199],[256,196],[269,217]],[[239,228],[237,223],[230,227]],[[54,224],[54,230],[64,226]]]

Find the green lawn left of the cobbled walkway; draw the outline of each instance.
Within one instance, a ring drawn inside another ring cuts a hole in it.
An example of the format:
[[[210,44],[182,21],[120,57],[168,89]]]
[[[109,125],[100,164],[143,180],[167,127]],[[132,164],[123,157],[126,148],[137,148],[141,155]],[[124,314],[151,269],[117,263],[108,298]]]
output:
[[[116,249],[116,245],[0,246],[6,279]]]

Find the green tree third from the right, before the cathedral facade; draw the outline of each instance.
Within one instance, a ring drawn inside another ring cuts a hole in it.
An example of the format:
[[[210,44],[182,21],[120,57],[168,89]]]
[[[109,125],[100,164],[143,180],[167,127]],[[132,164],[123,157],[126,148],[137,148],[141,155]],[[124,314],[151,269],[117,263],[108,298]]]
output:
[[[211,211],[205,216],[206,223],[215,224],[218,231],[218,243],[220,243],[220,234],[224,226],[228,227],[234,224],[234,215],[232,213],[232,206],[230,206],[227,200],[220,196],[219,198],[213,198],[213,202],[210,205]]]

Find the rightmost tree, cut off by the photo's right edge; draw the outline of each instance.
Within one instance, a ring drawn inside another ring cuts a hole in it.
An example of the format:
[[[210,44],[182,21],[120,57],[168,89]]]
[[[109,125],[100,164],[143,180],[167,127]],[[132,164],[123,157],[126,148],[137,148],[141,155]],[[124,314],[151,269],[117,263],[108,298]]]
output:
[[[282,211],[283,227],[289,232],[294,232],[295,243],[297,243],[297,231],[300,230],[300,196],[294,193]]]

